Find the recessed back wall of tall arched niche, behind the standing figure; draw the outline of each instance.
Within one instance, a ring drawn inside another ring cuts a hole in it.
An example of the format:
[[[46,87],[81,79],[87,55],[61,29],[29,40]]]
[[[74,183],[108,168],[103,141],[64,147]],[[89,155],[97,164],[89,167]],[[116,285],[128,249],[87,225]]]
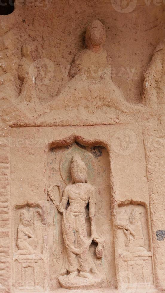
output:
[[[97,233],[105,239],[104,257],[97,260],[96,244],[92,242],[90,253],[93,261],[103,277],[103,287],[116,286],[114,237],[111,210],[111,186],[109,153],[101,141],[88,141],[83,138],[70,136],[60,141],[49,143],[47,150],[47,186],[54,184],[54,200],[60,202],[66,185],[71,183],[70,166],[72,156],[78,153],[87,167],[88,181],[96,190],[96,227]],[[49,198],[48,198],[49,200]],[[68,203],[69,205],[69,203]],[[52,205],[52,214],[53,214]],[[62,238],[62,215],[54,214],[53,266],[50,264],[52,276],[58,276],[62,267],[65,252]],[[85,209],[85,224],[90,236],[89,207]],[[57,254],[59,257],[57,257]],[[49,256],[51,257],[51,255]]]

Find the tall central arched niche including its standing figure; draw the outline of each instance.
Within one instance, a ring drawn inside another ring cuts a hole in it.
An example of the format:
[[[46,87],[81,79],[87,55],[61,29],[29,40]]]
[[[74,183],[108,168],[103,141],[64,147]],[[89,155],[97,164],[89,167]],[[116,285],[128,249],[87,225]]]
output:
[[[115,286],[107,155],[104,147],[77,143],[53,148],[49,154],[48,200],[54,209],[57,287]]]

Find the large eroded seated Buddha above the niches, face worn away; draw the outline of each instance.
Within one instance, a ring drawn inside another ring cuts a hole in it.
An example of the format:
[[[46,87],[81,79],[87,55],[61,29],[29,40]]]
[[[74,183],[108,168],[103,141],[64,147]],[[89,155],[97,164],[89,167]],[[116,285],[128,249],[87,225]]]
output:
[[[106,39],[104,25],[95,20],[86,30],[86,48],[76,54],[69,70],[71,80],[49,103],[49,109],[78,107],[94,113],[100,106],[125,108],[123,93],[111,79],[111,59],[103,48]]]

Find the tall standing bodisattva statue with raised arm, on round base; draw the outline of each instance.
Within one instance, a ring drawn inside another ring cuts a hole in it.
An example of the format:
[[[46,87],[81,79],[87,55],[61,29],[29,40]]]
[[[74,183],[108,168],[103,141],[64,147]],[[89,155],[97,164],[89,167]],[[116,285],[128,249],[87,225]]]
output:
[[[96,242],[96,256],[103,256],[104,240],[97,235],[95,224],[95,190],[88,184],[87,168],[78,153],[75,153],[71,163],[72,184],[65,187],[61,203],[54,201],[54,205],[63,214],[62,233],[66,249],[66,263],[59,282],[66,288],[82,287],[86,279],[86,286],[101,281],[96,273],[95,265],[89,254],[92,240]],[[69,207],[67,210],[67,203]],[[87,237],[85,226],[85,207],[89,202],[89,217],[91,221],[91,236]],[[76,278],[79,276],[79,278]],[[76,280],[77,279],[77,280]],[[88,280],[89,279],[89,280]]]

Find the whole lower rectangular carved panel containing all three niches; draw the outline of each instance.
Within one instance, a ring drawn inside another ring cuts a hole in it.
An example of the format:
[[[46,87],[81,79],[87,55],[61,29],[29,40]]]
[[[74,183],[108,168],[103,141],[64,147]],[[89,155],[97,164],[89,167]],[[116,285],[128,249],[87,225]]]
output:
[[[11,148],[13,290],[153,289],[141,130],[29,127],[12,136],[41,139]]]

